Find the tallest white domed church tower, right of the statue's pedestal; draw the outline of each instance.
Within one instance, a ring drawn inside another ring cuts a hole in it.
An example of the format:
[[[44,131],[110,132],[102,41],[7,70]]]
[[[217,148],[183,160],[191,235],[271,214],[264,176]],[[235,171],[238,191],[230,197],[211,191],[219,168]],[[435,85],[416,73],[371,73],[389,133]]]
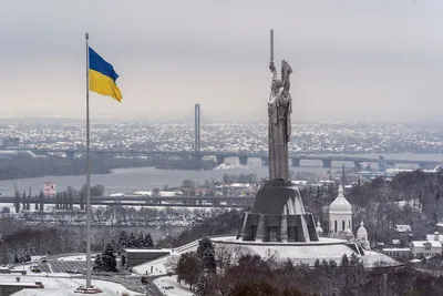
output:
[[[339,195],[329,206],[329,232],[337,234],[347,228],[352,229],[352,205],[344,198],[340,185]]]

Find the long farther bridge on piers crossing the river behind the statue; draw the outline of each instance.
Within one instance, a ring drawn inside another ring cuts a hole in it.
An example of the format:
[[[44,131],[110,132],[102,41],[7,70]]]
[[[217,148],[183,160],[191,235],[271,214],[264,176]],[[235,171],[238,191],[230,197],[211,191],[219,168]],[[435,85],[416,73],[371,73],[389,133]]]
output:
[[[74,159],[76,154],[84,154],[85,149],[33,149],[33,147],[2,147],[0,151],[29,151],[34,154],[64,153],[66,157]],[[225,163],[226,157],[238,157],[239,163],[246,165],[248,159],[260,159],[262,165],[268,165],[267,152],[226,152],[226,151],[141,151],[141,150],[91,150],[91,153],[105,157],[106,155],[128,155],[128,156],[192,156],[202,160],[204,156],[215,156],[218,164]],[[332,162],[350,162],[356,169],[360,169],[361,163],[378,163],[379,167],[394,167],[395,164],[419,165],[421,169],[442,165],[443,161],[423,160],[395,160],[379,157],[362,157],[354,155],[305,155],[291,153],[289,155],[292,166],[300,166],[302,161],[319,161],[323,167],[332,167]]]

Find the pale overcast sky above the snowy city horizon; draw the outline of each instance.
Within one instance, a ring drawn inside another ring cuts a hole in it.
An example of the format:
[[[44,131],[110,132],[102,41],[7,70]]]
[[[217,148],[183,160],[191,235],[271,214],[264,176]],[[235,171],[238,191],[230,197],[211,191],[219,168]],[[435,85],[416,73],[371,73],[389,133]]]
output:
[[[85,40],[123,103],[94,116],[266,116],[269,29],[293,120],[439,119],[442,0],[1,0],[1,116],[84,116]],[[280,64],[280,63],[278,63]]]

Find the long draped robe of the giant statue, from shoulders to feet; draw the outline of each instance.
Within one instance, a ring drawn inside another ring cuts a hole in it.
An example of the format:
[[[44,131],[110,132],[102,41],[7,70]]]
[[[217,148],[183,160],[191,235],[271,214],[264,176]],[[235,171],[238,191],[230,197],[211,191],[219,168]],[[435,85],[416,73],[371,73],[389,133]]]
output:
[[[269,180],[289,180],[288,143],[292,100],[290,93],[282,90],[271,93],[269,99]]]

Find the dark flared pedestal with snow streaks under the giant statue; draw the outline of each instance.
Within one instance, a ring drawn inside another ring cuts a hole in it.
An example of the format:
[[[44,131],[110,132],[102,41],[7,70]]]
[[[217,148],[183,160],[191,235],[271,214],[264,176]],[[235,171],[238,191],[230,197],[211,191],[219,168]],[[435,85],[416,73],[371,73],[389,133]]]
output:
[[[237,234],[243,241],[317,242],[312,214],[306,213],[297,187],[287,180],[265,181]]]

